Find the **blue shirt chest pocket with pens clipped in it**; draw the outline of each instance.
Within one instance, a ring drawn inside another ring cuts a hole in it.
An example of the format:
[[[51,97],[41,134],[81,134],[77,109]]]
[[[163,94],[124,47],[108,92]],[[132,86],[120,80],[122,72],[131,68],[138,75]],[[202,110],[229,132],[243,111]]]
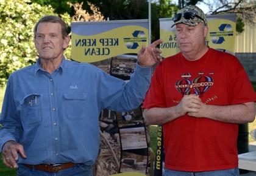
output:
[[[21,123],[24,127],[40,124],[42,120],[41,95],[31,93],[21,100]]]

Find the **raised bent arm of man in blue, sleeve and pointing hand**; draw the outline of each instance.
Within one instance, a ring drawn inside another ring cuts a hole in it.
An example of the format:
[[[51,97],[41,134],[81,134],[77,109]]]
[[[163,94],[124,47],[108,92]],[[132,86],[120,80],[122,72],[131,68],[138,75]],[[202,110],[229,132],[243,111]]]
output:
[[[138,64],[128,83],[101,73],[98,86],[100,109],[126,112],[140,106],[150,86],[151,66],[161,59],[161,50],[155,49],[161,42],[158,39],[138,52]]]

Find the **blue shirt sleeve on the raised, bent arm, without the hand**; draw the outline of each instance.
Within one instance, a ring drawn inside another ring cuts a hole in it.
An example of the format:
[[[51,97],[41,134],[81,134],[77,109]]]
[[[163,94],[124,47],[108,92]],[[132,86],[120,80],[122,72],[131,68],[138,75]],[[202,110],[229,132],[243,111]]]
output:
[[[128,82],[100,72],[99,107],[120,112],[140,106],[151,82],[152,68],[137,64]]]

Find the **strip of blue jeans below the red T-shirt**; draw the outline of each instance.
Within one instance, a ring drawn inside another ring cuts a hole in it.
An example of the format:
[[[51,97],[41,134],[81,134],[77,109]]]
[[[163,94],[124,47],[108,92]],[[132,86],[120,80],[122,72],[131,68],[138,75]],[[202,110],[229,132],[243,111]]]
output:
[[[205,172],[183,172],[165,169],[164,176],[238,176],[239,169],[226,169]]]

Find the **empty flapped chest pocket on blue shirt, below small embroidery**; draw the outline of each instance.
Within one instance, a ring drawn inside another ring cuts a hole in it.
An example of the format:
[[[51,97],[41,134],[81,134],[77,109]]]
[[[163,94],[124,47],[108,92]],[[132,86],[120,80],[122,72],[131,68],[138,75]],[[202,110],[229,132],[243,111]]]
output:
[[[84,119],[87,115],[87,92],[64,93],[64,108],[69,120]]]

